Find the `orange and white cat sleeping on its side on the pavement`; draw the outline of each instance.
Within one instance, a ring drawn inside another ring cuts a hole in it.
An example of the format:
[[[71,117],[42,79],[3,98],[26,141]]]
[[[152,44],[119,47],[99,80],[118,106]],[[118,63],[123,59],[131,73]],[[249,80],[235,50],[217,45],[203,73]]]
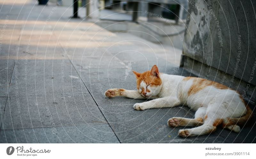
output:
[[[179,130],[181,137],[210,134],[219,125],[238,133],[240,126],[252,118],[252,110],[241,95],[220,83],[159,73],[156,65],[150,71],[133,73],[137,78],[138,90],[109,89],[105,96],[153,99],[134,104],[136,110],[187,105],[196,111],[194,119],[173,117],[167,122],[169,127],[194,127]]]

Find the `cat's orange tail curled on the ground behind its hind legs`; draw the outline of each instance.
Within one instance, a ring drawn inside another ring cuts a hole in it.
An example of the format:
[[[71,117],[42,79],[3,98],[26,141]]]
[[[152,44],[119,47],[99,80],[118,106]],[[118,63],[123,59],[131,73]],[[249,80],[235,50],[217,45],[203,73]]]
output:
[[[244,126],[247,121],[249,121],[252,118],[252,109],[246,105],[246,114],[240,118],[227,118],[223,121],[222,127],[228,128],[230,130],[233,130],[235,132],[240,131],[239,126]]]

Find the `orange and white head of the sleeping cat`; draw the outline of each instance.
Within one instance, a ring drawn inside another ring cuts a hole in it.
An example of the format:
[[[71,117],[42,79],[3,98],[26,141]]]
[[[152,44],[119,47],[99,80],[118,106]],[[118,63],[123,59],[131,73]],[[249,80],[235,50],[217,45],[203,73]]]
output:
[[[137,78],[137,89],[143,97],[157,96],[161,91],[159,87],[162,83],[160,74],[156,65],[150,71],[138,73],[133,71]]]

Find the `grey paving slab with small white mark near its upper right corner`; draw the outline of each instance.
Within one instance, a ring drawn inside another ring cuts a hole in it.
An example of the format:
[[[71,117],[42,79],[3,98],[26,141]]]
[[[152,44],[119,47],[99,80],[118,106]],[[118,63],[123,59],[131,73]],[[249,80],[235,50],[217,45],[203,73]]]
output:
[[[88,93],[79,76],[73,75],[34,75],[16,76],[11,81],[10,96],[81,94]]]

